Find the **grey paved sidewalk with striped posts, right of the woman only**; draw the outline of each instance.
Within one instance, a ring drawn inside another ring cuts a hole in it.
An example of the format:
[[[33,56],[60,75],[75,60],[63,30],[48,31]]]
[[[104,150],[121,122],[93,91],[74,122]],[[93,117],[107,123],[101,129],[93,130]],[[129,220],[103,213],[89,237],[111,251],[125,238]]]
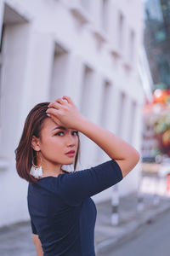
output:
[[[111,225],[111,200],[96,204],[95,250],[97,255],[105,255],[106,247],[126,239],[143,224],[149,224],[157,215],[170,208],[170,198],[160,195],[160,202],[153,204],[153,195],[143,194],[144,210],[137,211],[137,193],[120,198],[120,223]]]

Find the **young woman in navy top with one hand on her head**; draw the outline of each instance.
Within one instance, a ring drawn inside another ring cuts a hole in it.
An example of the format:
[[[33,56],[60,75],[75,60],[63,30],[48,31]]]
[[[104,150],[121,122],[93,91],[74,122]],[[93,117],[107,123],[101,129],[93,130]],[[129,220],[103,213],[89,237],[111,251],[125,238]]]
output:
[[[82,116],[71,97],[48,103],[31,109],[15,149],[17,172],[29,182],[27,202],[37,255],[94,256],[96,207],[90,197],[120,182],[137,165],[139,153]],[[79,131],[111,160],[75,172]],[[62,167],[71,164],[73,172]]]

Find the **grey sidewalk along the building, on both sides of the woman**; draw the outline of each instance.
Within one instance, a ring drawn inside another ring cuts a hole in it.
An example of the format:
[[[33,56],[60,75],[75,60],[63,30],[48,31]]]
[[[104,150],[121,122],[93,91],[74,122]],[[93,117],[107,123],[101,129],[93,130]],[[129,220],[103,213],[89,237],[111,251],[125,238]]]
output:
[[[120,224],[111,226],[111,200],[96,204],[95,225],[96,256],[106,255],[105,247],[113,247],[117,242],[133,234],[139,226],[150,223],[156,215],[170,208],[170,197],[160,196],[160,203],[153,205],[153,197],[144,195],[144,210],[137,212],[137,194],[120,198]],[[0,255],[36,256],[31,240],[30,222],[10,225],[0,229]]]

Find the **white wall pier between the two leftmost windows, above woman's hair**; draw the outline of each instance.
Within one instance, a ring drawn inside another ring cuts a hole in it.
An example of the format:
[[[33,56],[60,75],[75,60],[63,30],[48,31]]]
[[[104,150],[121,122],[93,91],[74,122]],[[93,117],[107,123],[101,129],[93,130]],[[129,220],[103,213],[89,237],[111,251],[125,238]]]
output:
[[[24,90],[20,99],[20,127],[39,102],[49,101],[49,84],[54,56],[54,41],[48,34],[31,32],[28,46]],[[19,131],[20,134],[21,131]]]

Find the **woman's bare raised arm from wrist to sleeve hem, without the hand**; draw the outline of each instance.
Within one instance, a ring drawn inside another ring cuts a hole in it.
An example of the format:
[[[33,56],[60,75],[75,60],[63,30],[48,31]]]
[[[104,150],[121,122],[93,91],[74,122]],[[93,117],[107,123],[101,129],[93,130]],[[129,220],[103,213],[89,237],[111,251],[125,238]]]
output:
[[[85,117],[82,117],[82,121],[77,125],[77,130],[98,144],[111,159],[116,160],[123,177],[139,162],[139,152],[129,143]]]

